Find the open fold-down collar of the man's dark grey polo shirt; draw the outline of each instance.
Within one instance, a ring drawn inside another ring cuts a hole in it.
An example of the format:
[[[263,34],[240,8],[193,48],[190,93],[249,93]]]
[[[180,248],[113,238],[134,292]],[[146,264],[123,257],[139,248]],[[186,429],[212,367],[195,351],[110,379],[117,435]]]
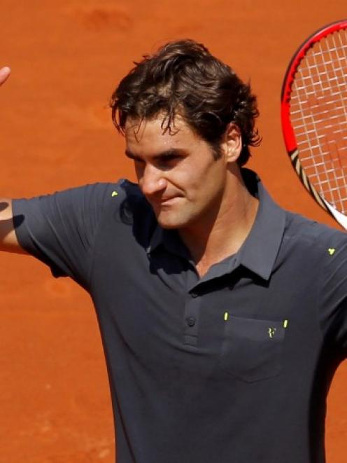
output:
[[[283,239],[285,211],[271,199],[255,172],[243,168],[241,173],[250,193],[259,199],[257,215],[239,251],[232,258],[224,259],[221,263],[213,265],[213,272],[217,270],[217,267],[218,273],[222,270],[221,267],[225,269],[225,273],[243,265],[262,279],[269,279]],[[176,230],[163,230],[157,225],[147,248],[148,254],[160,244],[174,254],[185,258],[190,257]]]

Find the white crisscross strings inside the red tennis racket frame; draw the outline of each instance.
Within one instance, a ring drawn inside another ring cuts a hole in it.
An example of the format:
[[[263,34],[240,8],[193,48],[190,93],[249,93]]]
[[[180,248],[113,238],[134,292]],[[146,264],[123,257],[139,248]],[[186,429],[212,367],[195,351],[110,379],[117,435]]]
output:
[[[292,85],[290,118],[299,160],[318,193],[347,211],[347,32],[315,43]]]

